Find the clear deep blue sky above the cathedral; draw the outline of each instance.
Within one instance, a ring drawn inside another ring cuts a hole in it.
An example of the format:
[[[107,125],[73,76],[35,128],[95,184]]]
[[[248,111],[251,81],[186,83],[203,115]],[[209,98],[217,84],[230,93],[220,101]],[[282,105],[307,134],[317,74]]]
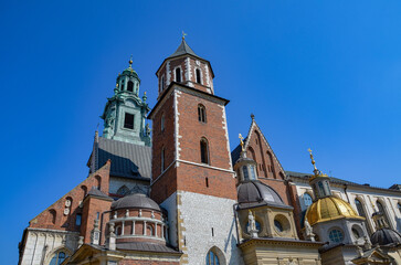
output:
[[[401,183],[400,1],[0,1],[2,264],[28,222],[87,177],[118,72],[180,44],[209,60],[231,148],[256,121],[286,170]]]

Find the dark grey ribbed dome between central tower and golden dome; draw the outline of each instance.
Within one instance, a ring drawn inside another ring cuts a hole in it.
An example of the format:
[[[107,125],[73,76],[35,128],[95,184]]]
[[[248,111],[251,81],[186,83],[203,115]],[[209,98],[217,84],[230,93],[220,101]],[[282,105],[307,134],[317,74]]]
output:
[[[236,190],[239,206],[242,209],[260,205],[291,208],[283,202],[275,190],[260,181],[243,182],[239,184]]]

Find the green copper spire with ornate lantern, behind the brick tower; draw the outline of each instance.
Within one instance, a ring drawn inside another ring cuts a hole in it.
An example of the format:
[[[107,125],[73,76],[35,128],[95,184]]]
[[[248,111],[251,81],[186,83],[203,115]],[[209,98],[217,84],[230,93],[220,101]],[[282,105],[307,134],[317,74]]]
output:
[[[129,66],[118,74],[114,96],[107,98],[104,119],[103,137],[141,146],[150,146],[150,129],[146,124],[146,115],[150,110],[139,97],[140,80],[133,68],[133,57]]]

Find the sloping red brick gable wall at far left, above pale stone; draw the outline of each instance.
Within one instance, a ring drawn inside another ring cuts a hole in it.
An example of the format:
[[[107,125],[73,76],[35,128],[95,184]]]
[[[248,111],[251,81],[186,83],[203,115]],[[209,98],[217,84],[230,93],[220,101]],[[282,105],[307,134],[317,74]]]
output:
[[[80,208],[80,202],[84,200],[85,189],[88,192],[92,187],[98,186],[98,178],[101,179],[101,190],[107,194],[108,180],[109,180],[110,161],[107,161],[105,166],[91,174],[87,179],[76,186],[68,193],[63,195],[56,202],[54,202],[46,210],[41,212],[38,216],[30,221],[30,227],[38,229],[52,229],[62,231],[75,231],[80,232],[81,226],[75,225],[75,219],[77,213],[83,213],[83,209]],[[70,213],[64,215],[65,201],[67,198],[72,199],[70,206]],[[55,212],[55,222],[52,222],[51,212]],[[84,221],[84,219],[82,219]]]

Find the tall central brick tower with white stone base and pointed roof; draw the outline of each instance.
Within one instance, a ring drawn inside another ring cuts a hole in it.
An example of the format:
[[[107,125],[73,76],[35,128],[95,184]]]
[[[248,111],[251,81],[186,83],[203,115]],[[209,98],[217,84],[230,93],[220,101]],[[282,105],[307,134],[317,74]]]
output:
[[[182,42],[156,73],[151,198],[168,210],[181,264],[242,264],[236,248],[225,105],[214,95],[210,62]]]

